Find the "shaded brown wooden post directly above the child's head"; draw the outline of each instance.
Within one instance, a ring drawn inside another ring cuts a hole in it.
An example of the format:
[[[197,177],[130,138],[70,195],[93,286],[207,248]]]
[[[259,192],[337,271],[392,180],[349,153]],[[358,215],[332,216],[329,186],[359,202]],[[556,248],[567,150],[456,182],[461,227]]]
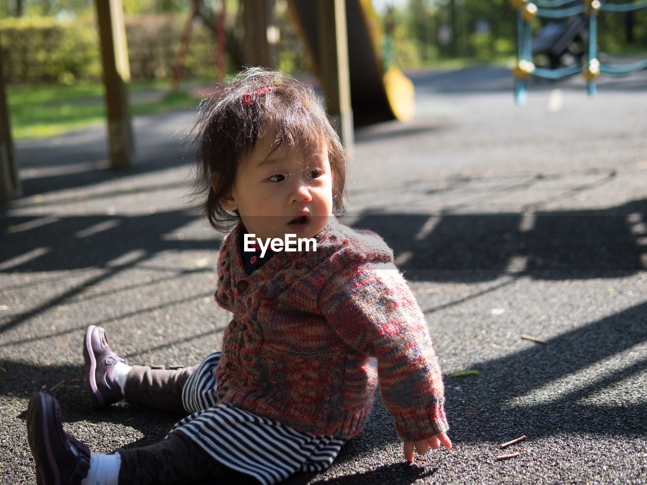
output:
[[[276,59],[270,52],[267,27],[272,21],[272,2],[269,0],[243,0],[243,25],[245,26],[245,63],[250,66],[276,69]]]

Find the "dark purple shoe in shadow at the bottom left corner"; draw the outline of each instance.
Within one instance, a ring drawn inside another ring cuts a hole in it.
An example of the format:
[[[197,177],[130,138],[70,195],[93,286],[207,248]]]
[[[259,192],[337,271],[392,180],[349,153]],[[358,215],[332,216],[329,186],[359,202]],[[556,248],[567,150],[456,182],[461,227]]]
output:
[[[27,408],[27,440],[38,485],[80,485],[90,469],[90,449],[63,431],[61,408],[49,394],[35,393]]]

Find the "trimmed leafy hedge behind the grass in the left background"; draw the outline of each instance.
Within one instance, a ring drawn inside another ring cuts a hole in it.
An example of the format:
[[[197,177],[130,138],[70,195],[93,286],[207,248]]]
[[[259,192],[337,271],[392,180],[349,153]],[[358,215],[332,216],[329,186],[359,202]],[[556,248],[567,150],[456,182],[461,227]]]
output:
[[[126,17],[133,80],[171,76],[185,21],[172,14]],[[8,83],[73,84],[101,79],[99,38],[92,17],[0,19],[0,48]],[[196,22],[184,76],[213,76],[215,49],[212,32]]]

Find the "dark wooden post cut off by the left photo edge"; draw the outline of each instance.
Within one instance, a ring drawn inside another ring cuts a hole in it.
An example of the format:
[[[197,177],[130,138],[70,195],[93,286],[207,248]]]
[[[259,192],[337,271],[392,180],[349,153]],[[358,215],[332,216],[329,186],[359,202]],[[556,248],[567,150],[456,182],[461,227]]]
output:
[[[6,100],[5,76],[2,70],[3,59],[0,49],[0,202],[21,195],[18,167],[14,155],[14,142],[11,139],[9,109]]]

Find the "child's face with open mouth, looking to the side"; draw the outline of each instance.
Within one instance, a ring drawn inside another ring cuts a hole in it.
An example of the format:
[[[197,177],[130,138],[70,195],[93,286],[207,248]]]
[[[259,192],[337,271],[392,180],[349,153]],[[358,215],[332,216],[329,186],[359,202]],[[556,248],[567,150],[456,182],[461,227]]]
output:
[[[296,234],[313,237],[333,214],[333,173],[324,147],[307,156],[303,150],[264,136],[241,161],[231,193],[221,199],[237,210],[256,237]]]

